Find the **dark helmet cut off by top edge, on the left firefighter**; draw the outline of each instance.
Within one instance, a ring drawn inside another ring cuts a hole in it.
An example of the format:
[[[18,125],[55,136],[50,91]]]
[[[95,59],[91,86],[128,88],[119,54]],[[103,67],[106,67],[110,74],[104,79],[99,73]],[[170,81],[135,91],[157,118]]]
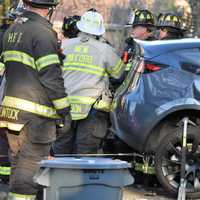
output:
[[[49,8],[58,4],[57,0],[23,0],[23,2],[36,8]]]

